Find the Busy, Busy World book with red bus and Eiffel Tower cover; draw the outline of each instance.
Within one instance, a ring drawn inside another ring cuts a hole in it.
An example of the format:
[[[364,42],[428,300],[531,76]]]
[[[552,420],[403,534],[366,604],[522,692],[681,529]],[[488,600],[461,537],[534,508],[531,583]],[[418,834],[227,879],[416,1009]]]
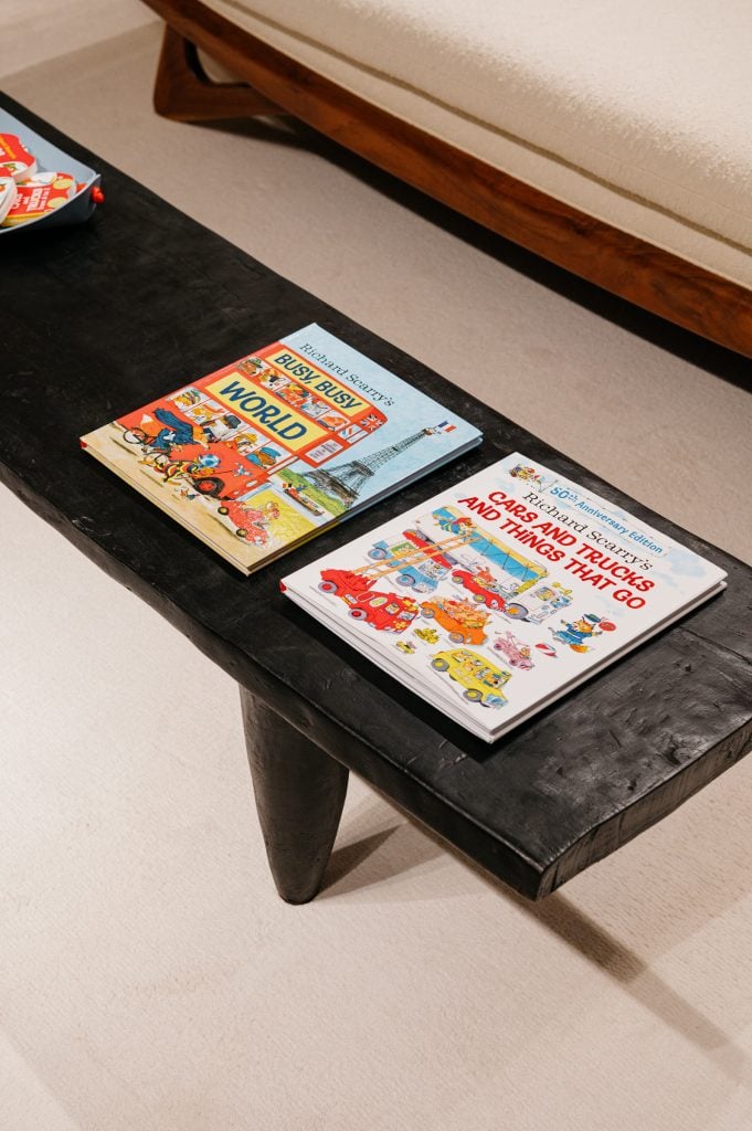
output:
[[[316,325],[81,437],[245,573],[479,442]]]

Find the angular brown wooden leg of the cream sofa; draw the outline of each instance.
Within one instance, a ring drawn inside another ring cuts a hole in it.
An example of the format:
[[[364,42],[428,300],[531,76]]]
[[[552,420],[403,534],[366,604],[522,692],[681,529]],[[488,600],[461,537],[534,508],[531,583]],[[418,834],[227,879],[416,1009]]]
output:
[[[284,113],[244,83],[214,83],[201,67],[193,44],[168,24],[154,86],[154,109],[163,118],[179,122]]]

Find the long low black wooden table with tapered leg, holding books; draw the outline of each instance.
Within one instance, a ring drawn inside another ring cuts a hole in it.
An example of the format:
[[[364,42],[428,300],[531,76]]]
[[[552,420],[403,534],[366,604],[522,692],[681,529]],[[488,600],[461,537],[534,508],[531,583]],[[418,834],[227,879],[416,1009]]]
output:
[[[0,477],[239,683],[283,898],[316,895],[348,769],[536,899],[666,817],[745,752],[747,567],[604,484],[10,100],[0,104],[102,170],[106,192],[87,225],[19,233],[5,245]],[[78,437],[311,321],[477,424],[485,441],[247,579],[85,456]],[[728,589],[489,748],[296,610],[278,578],[512,450],[716,561]],[[49,571],[53,585],[53,561]]]

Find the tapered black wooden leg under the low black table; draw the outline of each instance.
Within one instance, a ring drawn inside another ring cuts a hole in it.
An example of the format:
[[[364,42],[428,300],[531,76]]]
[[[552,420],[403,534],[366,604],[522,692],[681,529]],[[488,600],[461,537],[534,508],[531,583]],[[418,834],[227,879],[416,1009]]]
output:
[[[240,690],[248,759],[269,866],[288,904],[317,895],[347,793],[347,767]]]

